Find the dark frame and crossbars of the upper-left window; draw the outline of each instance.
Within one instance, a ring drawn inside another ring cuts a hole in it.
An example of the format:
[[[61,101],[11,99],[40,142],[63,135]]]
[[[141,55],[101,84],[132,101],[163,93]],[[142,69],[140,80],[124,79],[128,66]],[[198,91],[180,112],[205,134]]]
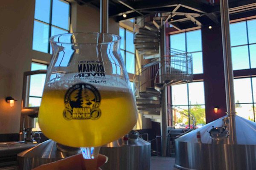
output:
[[[36,1],[36,0],[35,0]],[[68,29],[64,29],[64,28],[61,28],[61,27],[58,27],[58,26],[55,26],[52,24],[52,3],[53,3],[53,0],[50,0],[50,11],[49,11],[49,23],[46,23],[44,21],[41,21],[41,20],[38,20],[38,19],[35,19],[35,10],[34,10],[34,22],[33,22],[33,27],[34,27],[34,24],[35,24],[35,21],[39,22],[39,23],[43,23],[43,24],[46,24],[47,26],[49,26],[49,34],[48,34],[48,39],[51,37],[51,34],[52,34],[52,26],[55,27],[55,28],[58,28],[58,29],[61,29],[63,31],[67,31],[68,33],[70,33],[70,23],[71,23],[71,3],[68,2],[67,0],[60,0],[60,1],[64,1],[64,3],[68,3],[69,4],[69,18],[68,18]],[[33,40],[34,40],[34,31],[32,32],[33,34]],[[32,40],[32,46],[33,46],[33,40]],[[32,49],[34,50],[34,49]],[[37,51],[37,50],[35,50]],[[42,51],[40,51],[42,52]],[[51,48],[50,48],[50,42],[48,41],[48,49],[47,49],[47,54],[50,54],[51,52]],[[42,52],[42,53],[46,53],[46,52]]]

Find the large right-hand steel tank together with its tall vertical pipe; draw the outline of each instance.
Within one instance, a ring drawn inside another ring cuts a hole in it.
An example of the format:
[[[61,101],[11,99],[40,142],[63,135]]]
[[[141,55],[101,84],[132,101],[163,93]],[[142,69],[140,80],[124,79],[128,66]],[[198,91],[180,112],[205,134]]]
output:
[[[228,0],[220,0],[227,115],[175,140],[180,170],[256,170],[256,123],[236,115]]]

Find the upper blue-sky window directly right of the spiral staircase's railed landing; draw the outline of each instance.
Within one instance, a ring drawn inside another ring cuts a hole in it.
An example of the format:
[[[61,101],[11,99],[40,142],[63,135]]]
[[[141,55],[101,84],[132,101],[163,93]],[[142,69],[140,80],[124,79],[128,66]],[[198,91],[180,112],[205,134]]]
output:
[[[204,72],[201,30],[170,35],[170,47],[192,54],[193,74]]]

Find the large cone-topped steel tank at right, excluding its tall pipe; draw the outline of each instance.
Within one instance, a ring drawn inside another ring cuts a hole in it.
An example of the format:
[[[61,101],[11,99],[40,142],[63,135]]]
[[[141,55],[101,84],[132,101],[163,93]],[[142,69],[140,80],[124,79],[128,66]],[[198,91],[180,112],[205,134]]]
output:
[[[229,136],[214,141],[209,130],[222,127],[224,118],[229,119]],[[177,138],[175,147],[175,167],[180,170],[256,170],[256,123],[237,115],[224,116]]]

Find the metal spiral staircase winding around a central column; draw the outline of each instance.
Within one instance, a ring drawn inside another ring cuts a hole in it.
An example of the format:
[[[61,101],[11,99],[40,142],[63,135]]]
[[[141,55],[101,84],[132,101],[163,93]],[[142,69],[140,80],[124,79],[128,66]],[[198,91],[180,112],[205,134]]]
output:
[[[161,40],[165,32],[165,21],[168,20],[166,14],[154,14],[147,17],[137,18],[134,26],[134,44],[137,53],[143,56],[143,59],[149,61],[137,70],[134,75],[134,84],[136,86],[137,110],[145,118],[151,121],[161,122],[161,111],[163,109],[163,88],[170,85],[177,85],[192,81],[192,55],[185,51],[171,49],[165,46]],[[163,45],[165,48],[163,48]],[[162,47],[162,48],[161,48]],[[164,49],[164,51],[163,51]],[[195,117],[188,111],[181,111],[172,105],[167,106],[168,121],[172,128],[175,127],[174,113],[180,113],[187,117],[189,124],[195,127]],[[172,146],[174,139],[189,130],[182,130],[180,133],[170,134],[169,148],[167,151],[174,154]]]

